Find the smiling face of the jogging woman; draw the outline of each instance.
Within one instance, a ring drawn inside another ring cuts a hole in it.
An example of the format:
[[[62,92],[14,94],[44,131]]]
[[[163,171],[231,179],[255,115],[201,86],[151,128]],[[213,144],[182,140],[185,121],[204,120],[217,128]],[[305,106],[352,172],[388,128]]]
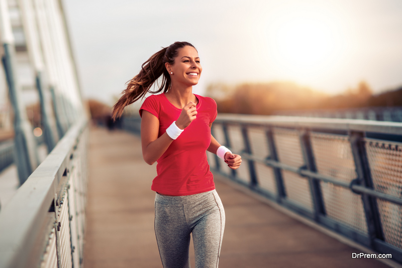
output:
[[[179,83],[185,86],[196,85],[203,71],[198,52],[191,46],[180,48],[174,63],[166,63],[165,66],[169,74],[173,72],[170,74],[172,84]]]

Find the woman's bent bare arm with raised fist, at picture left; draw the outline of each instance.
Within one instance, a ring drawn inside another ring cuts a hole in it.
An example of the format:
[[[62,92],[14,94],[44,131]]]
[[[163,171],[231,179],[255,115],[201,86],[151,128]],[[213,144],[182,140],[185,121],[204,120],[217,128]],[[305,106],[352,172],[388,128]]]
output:
[[[196,114],[195,104],[190,101],[181,110],[180,116],[176,120],[177,127],[180,129],[186,128],[196,118]],[[141,117],[142,157],[149,165],[155,163],[173,142],[173,139],[166,132],[159,138],[158,134],[159,119],[149,111],[143,110]]]

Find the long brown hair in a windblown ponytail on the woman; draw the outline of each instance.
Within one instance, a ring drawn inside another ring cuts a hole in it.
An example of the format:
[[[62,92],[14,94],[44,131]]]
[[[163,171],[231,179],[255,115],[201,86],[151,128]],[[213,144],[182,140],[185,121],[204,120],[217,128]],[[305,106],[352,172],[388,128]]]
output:
[[[113,106],[113,119],[116,120],[116,118],[119,118],[123,114],[124,107],[144,97],[147,92],[155,94],[163,90],[163,92],[166,93],[170,89],[171,80],[166,70],[165,63],[173,64],[174,59],[177,57],[178,50],[185,46],[195,48],[188,42],[174,42],[169,47],[162,48],[160,51],[156,52],[142,64],[139,74],[127,82],[127,87],[122,92],[123,95]],[[153,83],[160,76],[162,76],[162,83],[160,86],[158,84],[159,89],[152,91],[151,87]]]

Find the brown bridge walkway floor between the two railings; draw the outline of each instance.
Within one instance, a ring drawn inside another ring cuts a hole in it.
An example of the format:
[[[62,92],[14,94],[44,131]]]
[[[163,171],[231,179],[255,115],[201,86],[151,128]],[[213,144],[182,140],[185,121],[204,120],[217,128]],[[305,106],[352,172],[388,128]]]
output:
[[[154,234],[156,168],[140,139],[91,128],[84,266],[161,267]],[[226,212],[220,267],[387,267],[215,176]],[[191,266],[193,251],[190,251]]]

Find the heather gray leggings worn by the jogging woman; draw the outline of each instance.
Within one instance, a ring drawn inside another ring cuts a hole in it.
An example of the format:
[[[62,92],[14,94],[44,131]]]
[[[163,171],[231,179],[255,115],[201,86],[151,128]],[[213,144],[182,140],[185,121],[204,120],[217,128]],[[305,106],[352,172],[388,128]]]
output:
[[[195,267],[218,267],[225,211],[216,190],[155,197],[155,234],[164,268],[188,268],[190,233]]]

